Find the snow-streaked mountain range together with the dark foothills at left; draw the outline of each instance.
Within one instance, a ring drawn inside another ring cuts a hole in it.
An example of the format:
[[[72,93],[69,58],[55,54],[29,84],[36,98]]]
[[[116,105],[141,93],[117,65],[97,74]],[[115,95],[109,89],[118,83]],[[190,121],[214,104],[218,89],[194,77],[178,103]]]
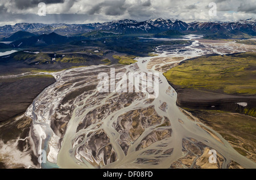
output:
[[[151,19],[145,22],[125,19],[93,24],[40,24],[20,23],[0,27],[0,49],[38,47],[65,44],[73,41],[126,36],[150,35],[174,37],[188,33],[204,35],[204,38],[251,38],[256,35],[255,20],[238,22],[192,22],[181,20]],[[7,35],[7,36],[3,36]],[[10,43],[11,42],[11,43]]]

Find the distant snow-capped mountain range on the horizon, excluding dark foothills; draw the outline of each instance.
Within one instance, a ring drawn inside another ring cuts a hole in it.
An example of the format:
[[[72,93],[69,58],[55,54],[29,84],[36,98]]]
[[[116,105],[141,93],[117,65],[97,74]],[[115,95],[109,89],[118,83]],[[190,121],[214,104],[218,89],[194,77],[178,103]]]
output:
[[[256,35],[255,19],[240,20],[237,22],[192,22],[185,23],[174,19],[150,19],[144,22],[124,19],[106,23],[90,24],[42,24],[42,23],[18,23],[0,27],[0,34],[9,36],[11,33],[26,31],[36,35],[55,32],[63,36],[79,35],[91,31],[113,31],[124,34],[160,33],[168,30],[193,33],[246,33]]]

